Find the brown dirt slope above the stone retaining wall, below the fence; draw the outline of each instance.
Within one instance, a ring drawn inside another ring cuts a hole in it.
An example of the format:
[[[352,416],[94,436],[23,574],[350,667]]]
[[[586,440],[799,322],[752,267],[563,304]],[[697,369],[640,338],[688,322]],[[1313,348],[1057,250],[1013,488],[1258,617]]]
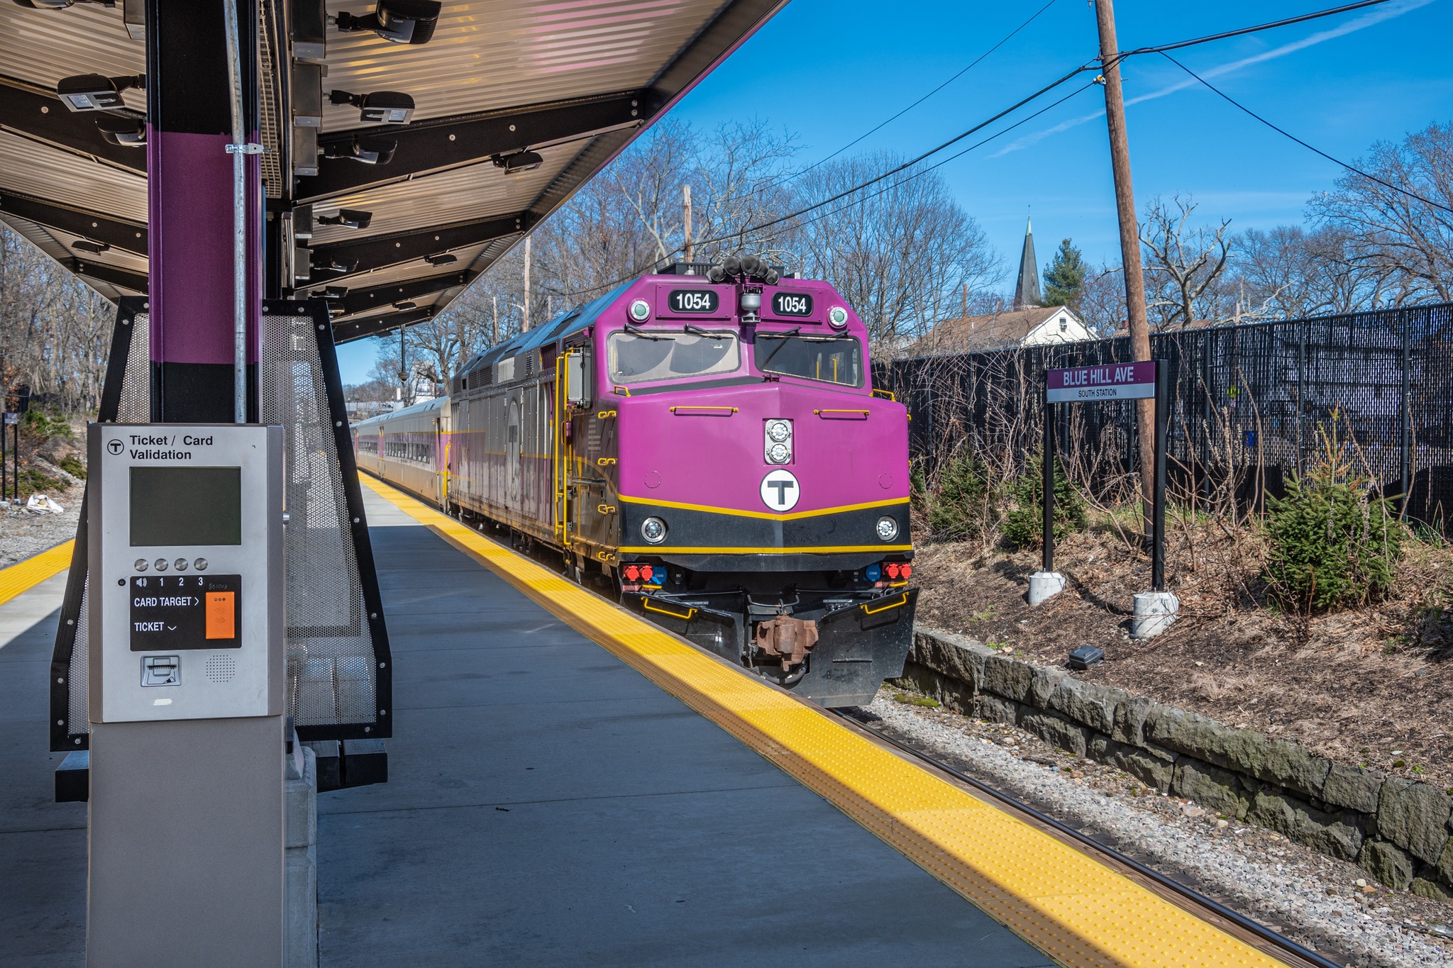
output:
[[[1024,602],[1037,550],[921,544],[918,621],[1043,665],[1098,646],[1106,660],[1080,673],[1088,681],[1453,787],[1453,549],[1408,541],[1386,601],[1289,615],[1258,588],[1258,549],[1245,533],[1213,522],[1168,531],[1167,586],[1181,605],[1157,639],[1129,637],[1149,559],[1104,521],[1059,544],[1055,569],[1068,588],[1037,608]]]

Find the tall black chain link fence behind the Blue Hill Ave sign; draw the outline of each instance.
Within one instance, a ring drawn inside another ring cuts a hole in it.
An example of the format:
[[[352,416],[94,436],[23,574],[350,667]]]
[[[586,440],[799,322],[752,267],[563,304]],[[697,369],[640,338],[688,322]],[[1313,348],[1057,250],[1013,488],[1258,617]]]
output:
[[[1453,305],[1158,332],[1151,356],[1170,366],[1173,499],[1258,509],[1335,428],[1408,518],[1449,533]],[[1046,369],[1130,358],[1129,338],[921,357],[878,364],[875,386],[908,405],[930,479],[965,448],[1008,476],[1039,448]],[[1135,493],[1133,408],[1056,409],[1061,459],[1098,499]]]

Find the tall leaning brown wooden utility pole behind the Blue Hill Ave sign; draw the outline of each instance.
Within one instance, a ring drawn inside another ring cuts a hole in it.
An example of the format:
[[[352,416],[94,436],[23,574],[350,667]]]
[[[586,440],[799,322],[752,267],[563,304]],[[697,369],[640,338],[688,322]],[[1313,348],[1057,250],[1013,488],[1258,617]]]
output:
[[[1100,71],[1104,84],[1104,119],[1110,129],[1110,170],[1114,174],[1114,208],[1120,219],[1120,263],[1125,267],[1125,311],[1130,327],[1130,354],[1151,358],[1151,325],[1145,315],[1145,277],[1141,274],[1141,229],[1135,218],[1135,189],[1130,186],[1130,141],[1125,131],[1125,96],[1120,91],[1119,45],[1114,39],[1113,0],[1094,0],[1100,26]],[[1141,512],[1145,540],[1155,504],[1155,401],[1135,403],[1135,427],[1141,451]]]

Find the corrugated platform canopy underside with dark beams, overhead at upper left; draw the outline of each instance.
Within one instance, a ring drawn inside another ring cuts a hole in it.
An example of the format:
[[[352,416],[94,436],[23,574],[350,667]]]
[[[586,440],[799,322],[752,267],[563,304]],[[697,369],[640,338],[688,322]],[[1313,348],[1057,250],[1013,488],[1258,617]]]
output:
[[[445,0],[433,38],[401,45],[331,23],[372,0],[327,0],[327,20],[323,0],[262,0],[269,298],[327,287],[339,341],[443,311],[783,4]],[[147,151],[108,141],[97,115],[139,122],[145,91],[73,113],[57,84],[144,74],[142,6],[0,0],[0,219],[110,299],[147,292]],[[330,91],[398,91],[414,112],[365,125]],[[381,164],[325,157],[357,138],[397,147]],[[539,164],[509,171],[510,155]],[[341,209],[368,226],[320,221]]]

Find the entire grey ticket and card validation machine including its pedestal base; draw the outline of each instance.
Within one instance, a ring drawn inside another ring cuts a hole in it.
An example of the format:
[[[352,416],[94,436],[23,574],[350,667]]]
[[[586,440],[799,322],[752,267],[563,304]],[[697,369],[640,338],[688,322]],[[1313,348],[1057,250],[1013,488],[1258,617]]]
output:
[[[92,424],[89,965],[279,965],[282,428]]]

